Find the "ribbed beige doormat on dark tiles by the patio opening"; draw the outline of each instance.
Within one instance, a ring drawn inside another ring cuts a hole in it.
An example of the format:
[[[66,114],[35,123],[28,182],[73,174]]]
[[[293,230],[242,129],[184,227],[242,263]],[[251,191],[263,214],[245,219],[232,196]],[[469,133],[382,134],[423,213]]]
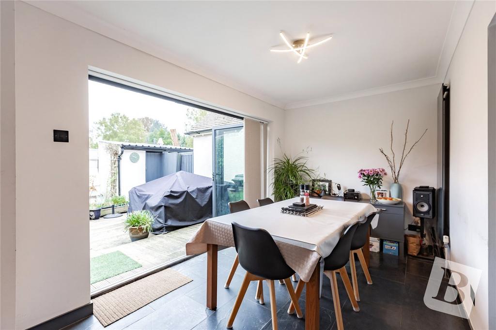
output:
[[[93,299],[93,315],[107,327],[191,281],[181,273],[166,269],[96,297]]]

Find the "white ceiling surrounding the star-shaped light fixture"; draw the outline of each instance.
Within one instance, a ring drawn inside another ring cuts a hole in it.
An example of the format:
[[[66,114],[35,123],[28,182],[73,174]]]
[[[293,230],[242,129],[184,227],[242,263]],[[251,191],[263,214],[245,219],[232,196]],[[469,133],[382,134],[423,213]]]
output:
[[[440,82],[467,18],[455,1],[29,3],[281,108]],[[281,30],[333,39],[297,64],[269,52]]]

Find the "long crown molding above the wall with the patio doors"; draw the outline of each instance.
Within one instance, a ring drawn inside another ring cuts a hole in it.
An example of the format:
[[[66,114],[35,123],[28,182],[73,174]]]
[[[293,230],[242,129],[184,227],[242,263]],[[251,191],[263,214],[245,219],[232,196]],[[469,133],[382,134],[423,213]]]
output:
[[[283,102],[278,101],[261,91],[244,86],[243,84],[233,81],[232,79],[229,79],[219,73],[207,71],[194,63],[179,58],[166,49],[153,45],[153,43],[144,40],[142,37],[131,31],[121,29],[113,24],[105,22],[98,17],[95,17],[88,12],[75,7],[73,4],[71,4],[71,1],[23,0],[22,2],[37,7],[43,11],[79,25],[85,29],[96,32],[104,37],[118,41],[126,46],[160,58],[166,62],[200,75],[206,79],[237,90],[238,92],[251,96],[264,103],[268,103],[279,109],[284,109]]]

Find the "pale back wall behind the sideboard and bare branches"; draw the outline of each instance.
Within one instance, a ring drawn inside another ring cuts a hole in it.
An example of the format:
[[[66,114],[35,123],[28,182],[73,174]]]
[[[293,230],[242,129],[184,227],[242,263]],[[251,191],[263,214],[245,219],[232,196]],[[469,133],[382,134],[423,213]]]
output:
[[[406,227],[413,220],[412,189],[418,185],[436,185],[436,116],[440,88],[439,84],[286,110],[285,151],[294,157],[310,147],[307,156],[312,168],[341,183],[343,189],[360,190],[362,198],[368,198],[368,187],[362,186],[357,177],[360,168],[384,167],[388,172],[384,178],[385,188],[389,189],[392,182],[387,162],[378,150],[389,149],[391,121],[394,120],[397,151],[408,118],[411,119],[409,143],[416,141],[427,128],[400,175],[408,206]]]

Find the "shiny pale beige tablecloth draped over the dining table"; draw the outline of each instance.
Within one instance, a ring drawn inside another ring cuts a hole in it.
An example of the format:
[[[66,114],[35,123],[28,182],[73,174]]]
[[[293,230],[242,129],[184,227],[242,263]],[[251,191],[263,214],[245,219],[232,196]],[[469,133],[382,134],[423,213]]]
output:
[[[298,198],[215,217],[203,222],[186,244],[186,255],[206,251],[207,244],[234,246],[231,223],[263,228],[274,238],[286,263],[304,280],[310,276],[320,257],[327,257],[348,225],[363,221],[376,211],[368,203],[316,200],[324,209],[310,217],[281,214],[281,207]]]

